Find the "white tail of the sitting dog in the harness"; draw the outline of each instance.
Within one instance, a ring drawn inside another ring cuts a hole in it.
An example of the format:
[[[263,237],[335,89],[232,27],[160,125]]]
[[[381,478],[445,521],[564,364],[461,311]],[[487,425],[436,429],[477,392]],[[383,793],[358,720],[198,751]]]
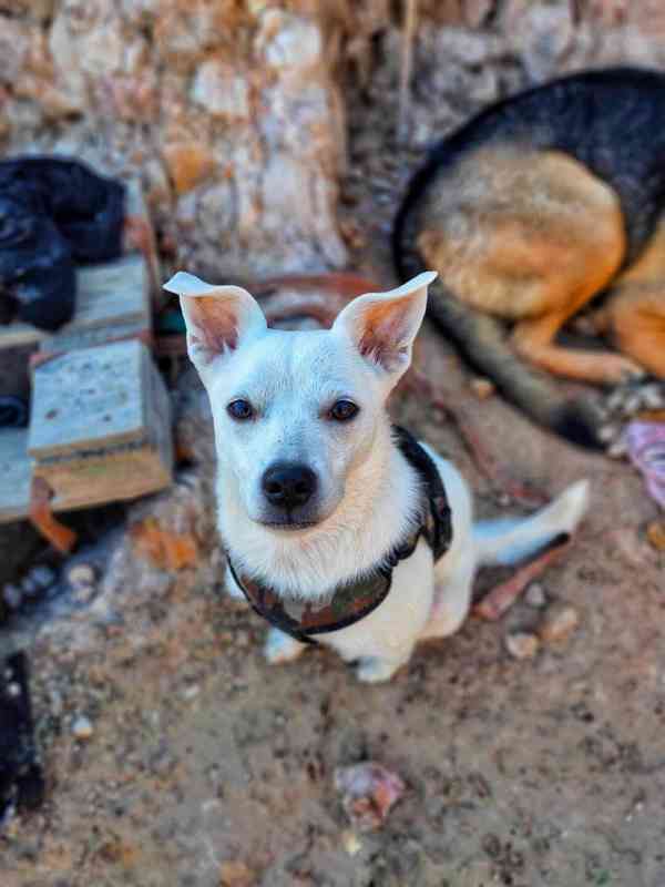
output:
[[[479,564],[513,564],[567,539],[589,507],[589,481],[573,483],[529,518],[500,518],[473,526]]]

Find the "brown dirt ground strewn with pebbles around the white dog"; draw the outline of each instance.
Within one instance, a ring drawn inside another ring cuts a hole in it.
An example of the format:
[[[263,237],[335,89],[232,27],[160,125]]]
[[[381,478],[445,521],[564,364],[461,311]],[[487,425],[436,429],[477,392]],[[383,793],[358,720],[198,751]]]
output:
[[[380,142],[380,113],[365,110],[351,120],[344,224],[357,266],[385,282],[412,159]],[[665,887],[665,555],[645,540],[656,507],[626,463],[477,400],[429,327],[416,360],[498,477],[549,496],[590,479],[589,518],[542,580],[579,628],[516,661],[507,635],[542,619],[520,601],[499,623],[470,619],[422,645],[388,685],[359,684],[323,650],[268,666],[263,624],[221,593],[211,422],[187,375],[178,435],[194,466],[130,521],[194,540],[195,557],[167,569],[140,533],[117,532],[79,555],[101,572],[90,599],[63,591],[43,619],[0,632],[0,653],[31,651],[48,778],[42,809],[0,837],[2,887]],[[510,510],[424,392],[393,411],[454,458],[479,512]],[[334,771],[365,759],[407,792],[382,828],[355,834]]]

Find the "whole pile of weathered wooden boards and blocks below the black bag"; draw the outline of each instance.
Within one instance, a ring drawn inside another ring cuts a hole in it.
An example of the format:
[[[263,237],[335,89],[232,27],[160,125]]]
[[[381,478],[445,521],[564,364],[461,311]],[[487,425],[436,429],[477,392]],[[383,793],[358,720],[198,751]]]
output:
[[[127,182],[125,217],[125,254],[76,271],[71,323],[55,334],[27,324],[0,326],[0,392],[28,396],[30,360],[38,366],[39,389],[32,405],[39,420],[30,432],[0,429],[0,523],[28,517],[33,472],[55,491],[53,511],[131,499],[171,482],[170,401],[150,355],[139,341],[124,351],[93,348],[151,338],[160,268],[135,180]],[[80,349],[95,354],[83,363],[53,363],[54,356],[66,358]],[[124,387],[117,378],[102,377],[104,366],[115,367]],[[53,409],[57,414],[47,418]]]

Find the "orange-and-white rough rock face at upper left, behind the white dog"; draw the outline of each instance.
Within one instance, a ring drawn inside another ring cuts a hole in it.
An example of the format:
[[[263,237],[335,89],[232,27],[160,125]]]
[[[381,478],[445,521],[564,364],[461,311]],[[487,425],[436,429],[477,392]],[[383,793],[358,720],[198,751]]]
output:
[[[0,3],[0,137],[139,170],[178,264],[345,263],[344,114],[314,17],[234,0]]]

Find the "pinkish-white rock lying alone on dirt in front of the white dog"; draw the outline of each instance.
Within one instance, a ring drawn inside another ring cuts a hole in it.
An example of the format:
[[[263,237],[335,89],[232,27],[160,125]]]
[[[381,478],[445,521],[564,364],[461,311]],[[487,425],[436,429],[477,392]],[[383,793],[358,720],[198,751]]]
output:
[[[358,832],[379,828],[406,791],[397,774],[372,761],[337,767],[335,787],[341,793],[341,805]]]

